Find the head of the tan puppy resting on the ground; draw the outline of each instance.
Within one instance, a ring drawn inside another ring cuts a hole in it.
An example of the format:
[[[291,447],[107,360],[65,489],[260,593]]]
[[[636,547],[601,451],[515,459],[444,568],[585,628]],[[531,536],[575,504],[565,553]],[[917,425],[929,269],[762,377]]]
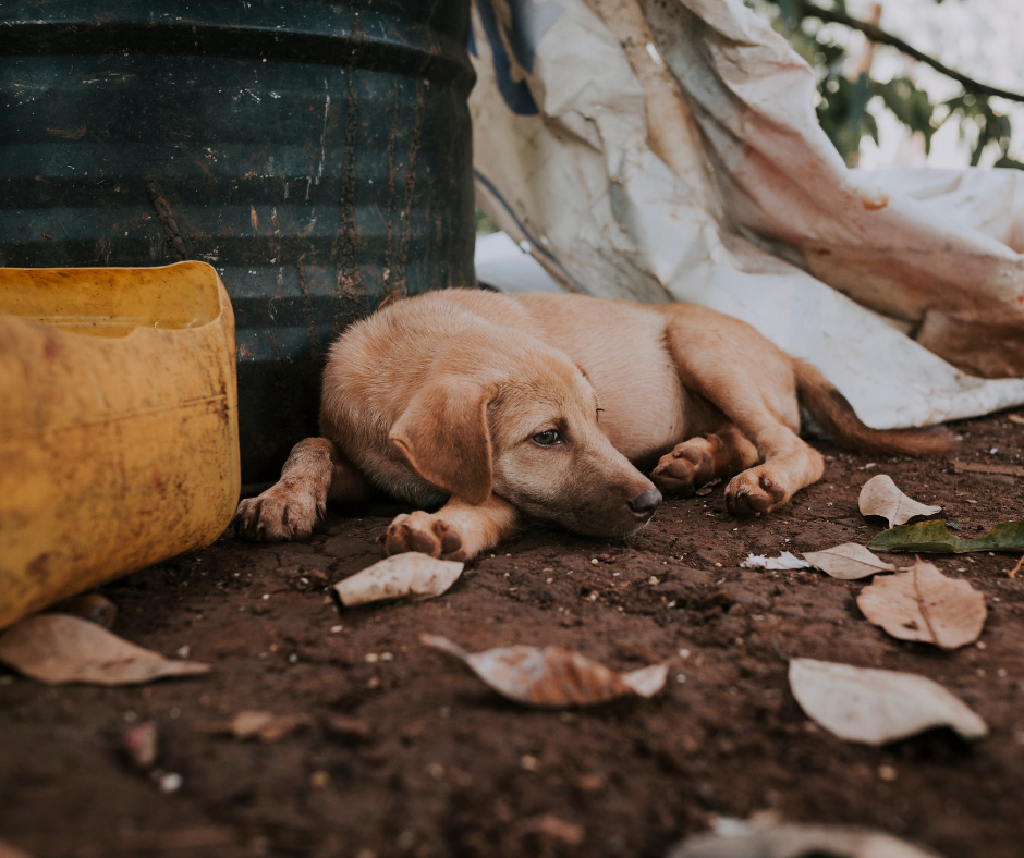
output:
[[[471,503],[493,492],[581,534],[647,524],[661,495],[601,431],[581,369],[532,338],[487,348],[446,361],[392,427],[410,465]]]

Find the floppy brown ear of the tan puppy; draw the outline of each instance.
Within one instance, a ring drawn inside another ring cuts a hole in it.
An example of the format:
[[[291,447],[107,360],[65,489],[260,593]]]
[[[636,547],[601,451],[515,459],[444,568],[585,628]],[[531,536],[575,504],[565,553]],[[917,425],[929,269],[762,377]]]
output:
[[[472,504],[484,503],[495,479],[487,406],[496,393],[462,378],[430,382],[388,439],[425,480]]]

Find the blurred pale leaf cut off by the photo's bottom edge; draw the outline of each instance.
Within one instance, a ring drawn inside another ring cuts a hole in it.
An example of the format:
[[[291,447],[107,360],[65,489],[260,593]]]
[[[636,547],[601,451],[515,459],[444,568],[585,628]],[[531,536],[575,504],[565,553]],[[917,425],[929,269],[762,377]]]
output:
[[[687,837],[668,858],[935,858],[905,841],[880,831],[846,825],[779,825],[751,828],[734,836],[698,834]]]

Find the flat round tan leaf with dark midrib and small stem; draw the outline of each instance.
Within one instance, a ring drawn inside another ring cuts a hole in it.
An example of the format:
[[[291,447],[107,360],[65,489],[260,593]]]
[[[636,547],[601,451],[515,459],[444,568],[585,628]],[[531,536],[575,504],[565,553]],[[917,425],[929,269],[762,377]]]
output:
[[[876,626],[900,640],[923,640],[942,649],[973,644],[985,625],[985,597],[967,581],[947,578],[930,563],[875,578],[857,606]]]

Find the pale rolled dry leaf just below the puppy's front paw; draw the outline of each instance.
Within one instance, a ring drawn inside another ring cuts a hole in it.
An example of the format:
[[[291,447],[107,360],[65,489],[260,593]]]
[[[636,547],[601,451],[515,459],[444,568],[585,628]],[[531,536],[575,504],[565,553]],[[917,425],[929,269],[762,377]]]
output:
[[[345,608],[382,599],[415,597],[414,601],[440,596],[462,575],[464,563],[437,560],[414,551],[392,554],[334,585]]]

